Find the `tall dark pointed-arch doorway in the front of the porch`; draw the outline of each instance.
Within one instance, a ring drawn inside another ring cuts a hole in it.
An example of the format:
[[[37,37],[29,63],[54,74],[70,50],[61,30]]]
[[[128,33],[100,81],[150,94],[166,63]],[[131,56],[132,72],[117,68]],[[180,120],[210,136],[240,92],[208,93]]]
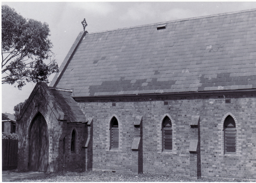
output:
[[[29,169],[47,171],[49,155],[48,128],[41,113],[38,113],[32,121],[29,134]]]

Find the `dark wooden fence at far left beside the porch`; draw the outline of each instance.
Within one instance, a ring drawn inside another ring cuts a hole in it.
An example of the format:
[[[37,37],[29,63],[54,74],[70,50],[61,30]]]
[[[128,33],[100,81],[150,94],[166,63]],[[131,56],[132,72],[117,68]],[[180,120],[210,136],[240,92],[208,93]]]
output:
[[[2,139],[2,168],[16,169],[18,166],[18,140]]]

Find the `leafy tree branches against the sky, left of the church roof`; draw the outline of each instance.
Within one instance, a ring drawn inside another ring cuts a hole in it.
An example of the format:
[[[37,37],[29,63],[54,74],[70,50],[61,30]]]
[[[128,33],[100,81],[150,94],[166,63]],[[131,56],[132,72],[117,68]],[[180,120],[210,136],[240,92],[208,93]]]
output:
[[[48,76],[58,72],[49,33],[48,24],[2,6],[2,84],[21,89],[26,82],[49,83]]]

